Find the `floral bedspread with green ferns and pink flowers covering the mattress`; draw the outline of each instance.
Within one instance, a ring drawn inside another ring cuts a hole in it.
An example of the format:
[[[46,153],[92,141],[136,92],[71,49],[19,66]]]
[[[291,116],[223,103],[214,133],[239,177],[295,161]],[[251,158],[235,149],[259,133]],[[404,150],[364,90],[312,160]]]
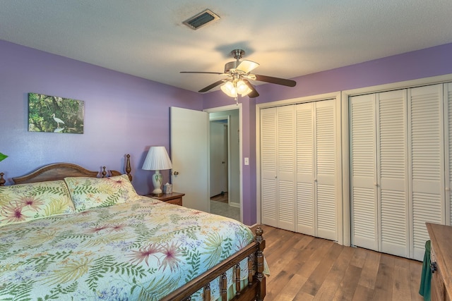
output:
[[[159,300],[251,240],[242,223],[147,197],[5,225],[0,300]]]

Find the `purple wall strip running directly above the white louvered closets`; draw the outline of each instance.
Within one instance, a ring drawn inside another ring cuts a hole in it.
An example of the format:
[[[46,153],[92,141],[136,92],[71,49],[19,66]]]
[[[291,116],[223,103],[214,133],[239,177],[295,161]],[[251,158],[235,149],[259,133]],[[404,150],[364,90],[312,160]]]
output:
[[[297,86],[258,86],[263,104],[452,73],[452,43],[294,78]]]

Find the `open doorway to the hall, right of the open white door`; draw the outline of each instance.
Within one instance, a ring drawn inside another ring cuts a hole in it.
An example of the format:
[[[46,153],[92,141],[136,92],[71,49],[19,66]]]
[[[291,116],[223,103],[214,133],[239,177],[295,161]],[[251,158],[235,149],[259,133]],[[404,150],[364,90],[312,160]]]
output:
[[[210,213],[242,221],[239,109],[209,113]]]

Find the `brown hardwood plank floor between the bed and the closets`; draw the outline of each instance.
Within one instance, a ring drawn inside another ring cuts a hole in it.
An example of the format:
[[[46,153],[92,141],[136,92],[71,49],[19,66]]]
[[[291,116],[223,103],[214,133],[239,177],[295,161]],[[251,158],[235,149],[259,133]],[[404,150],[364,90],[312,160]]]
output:
[[[270,268],[265,300],[424,300],[422,262],[261,227]]]

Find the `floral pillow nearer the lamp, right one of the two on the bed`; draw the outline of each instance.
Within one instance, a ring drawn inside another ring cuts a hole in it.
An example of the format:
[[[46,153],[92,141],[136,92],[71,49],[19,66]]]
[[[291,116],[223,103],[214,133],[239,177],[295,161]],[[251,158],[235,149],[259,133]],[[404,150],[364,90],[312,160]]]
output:
[[[140,198],[127,175],[110,178],[69,177],[64,180],[77,212]]]

